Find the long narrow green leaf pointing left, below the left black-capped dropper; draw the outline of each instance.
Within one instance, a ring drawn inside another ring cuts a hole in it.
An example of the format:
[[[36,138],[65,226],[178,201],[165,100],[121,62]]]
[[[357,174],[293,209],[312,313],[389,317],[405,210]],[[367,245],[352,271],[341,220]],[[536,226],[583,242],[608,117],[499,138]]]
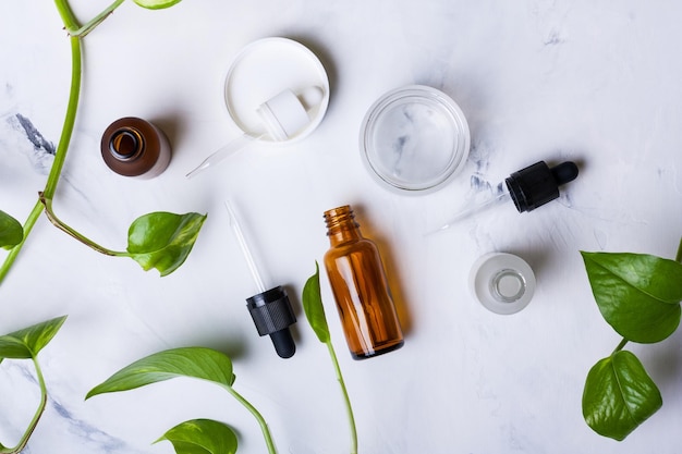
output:
[[[190,377],[232,386],[234,375],[230,358],[212,348],[172,348],[146,356],[93,388],[85,398],[97,394],[127,391],[146,384]]]

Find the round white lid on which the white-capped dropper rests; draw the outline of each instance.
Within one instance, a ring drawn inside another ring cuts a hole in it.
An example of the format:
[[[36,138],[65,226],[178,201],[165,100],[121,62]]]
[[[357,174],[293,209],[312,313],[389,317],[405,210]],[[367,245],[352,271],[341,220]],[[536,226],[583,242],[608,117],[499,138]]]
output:
[[[224,98],[232,121],[246,134],[260,136],[265,127],[257,109],[284,90],[303,94],[319,87],[321,101],[308,111],[308,125],[285,143],[309,135],[322,121],[329,106],[329,78],[319,59],[305,46],[289,38],[264,38],[246,46],[234,59],[224,84]],[[264,142],[277,143],[267,135]]]

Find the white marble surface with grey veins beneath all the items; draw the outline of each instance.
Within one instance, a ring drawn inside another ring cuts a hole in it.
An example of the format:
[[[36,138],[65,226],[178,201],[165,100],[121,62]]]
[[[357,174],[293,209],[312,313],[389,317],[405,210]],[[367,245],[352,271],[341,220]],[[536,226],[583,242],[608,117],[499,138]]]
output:
[[[77,0],[86,20],[107,2]],[[120,367],[160,349],[212,346],[232,355],[235,389],[263,413],[281,453],[348,449],[341,396],[300,295],[328,247],[322,211],[355,206],[380,247],[399,302],[405,346],[354,361],[326,278],[328,319],[349,386],[362,453],[675,453],[682,424],[682,334],[638,346],[663,407],[624,442],[583,421],[587,370],[619,338],[594,303],[580,249],[673,257],[682,234],[682,7],[674,1],[348,0],[183,1],[165,11],[125,2],[85,38],[84,85],[63,179],[62,219],[124,248],[136,217],[208,212],[184,266],[159,278],[99,256],[42,219],[0,286],[0,332],[69,315],[41,353],[50,401],[27,453],[171,453],[150,443],[175,424],[222,420],[240,453],[263,453],[255,420],[224,391],[172,380],[94,397]],[[268,36],[300,40],[330,74],[319,128],[292,147],[256,146],[202,177],[184,174],[239,131],[222,101],[231,59]],[[61,131],[69,44],[50,1],[0,3],[0,209],[24,220]],[[472,150],[441,191],[406,197],[379,187],[357,150],[366,109],[389,89],[439,88],[464,111]],[[124,115],[156,122],[174,156],[151,181],[110,172],[105,127]],[[579,180],[532,213],[511,206],[431,237],[491,185],[537,160],[571,159]],[[228,228],[230,198],[272,285],[300,312],[297,353],[256,336],[244,298],[256,293]],[[533,302],[498,316],[470,296],[477,257],[510,251],[534,268]],[[0,368],[0,440],[11,444],[37,403],[27,363]]]

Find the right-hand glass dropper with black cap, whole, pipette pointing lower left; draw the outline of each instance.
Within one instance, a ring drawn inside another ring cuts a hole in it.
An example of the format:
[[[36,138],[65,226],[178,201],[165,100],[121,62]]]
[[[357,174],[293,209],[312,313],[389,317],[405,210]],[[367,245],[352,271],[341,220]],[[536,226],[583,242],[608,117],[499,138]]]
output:
[[[576,177],[577,165],[575,162],[565,161],[552,168],[547,165],[545,161],[536,162],[533,165],[513,172],[509,177],[504,179],[507,191],[482,204],[460,211],[446,224],[430,233],[449,229],[454,222],[506,201],[508,198],[512,199],[519,212],[533,211],[559,198],[559,187]]]

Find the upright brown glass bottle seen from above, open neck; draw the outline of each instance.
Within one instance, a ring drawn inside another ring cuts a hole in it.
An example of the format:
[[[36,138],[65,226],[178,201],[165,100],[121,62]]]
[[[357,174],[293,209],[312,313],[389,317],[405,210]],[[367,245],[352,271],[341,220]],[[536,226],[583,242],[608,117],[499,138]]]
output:
[[[158,176],[171,159],[166,134],[136,116],[125,116],[111,123],[102,134],[100,148],[107,165],[124,176]]]

